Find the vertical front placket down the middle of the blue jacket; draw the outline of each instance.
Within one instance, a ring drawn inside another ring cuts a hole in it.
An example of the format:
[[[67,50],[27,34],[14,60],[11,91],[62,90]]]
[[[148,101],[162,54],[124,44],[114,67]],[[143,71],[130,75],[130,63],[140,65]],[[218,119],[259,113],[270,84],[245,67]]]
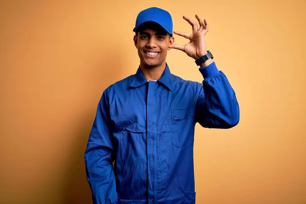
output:
[[[156,203],[156,174],[157,174],[157,107],[156,107],[156,86],[157,83],[149,81],[147,95],[147,161],[148,161],[148,203]]]

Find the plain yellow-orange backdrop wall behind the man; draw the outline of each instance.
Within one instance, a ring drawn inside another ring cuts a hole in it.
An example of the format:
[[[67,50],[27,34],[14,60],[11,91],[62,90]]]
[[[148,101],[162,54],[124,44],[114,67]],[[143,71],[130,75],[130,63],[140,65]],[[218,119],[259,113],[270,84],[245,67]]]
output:
[[[233,129],[196,125],[197,203],[306,203],[304,0],[1,1],[0,202],[91,202],[83,155],[97,103],[136,72],[132,30],[151,6],[177,31],[191,31],[183,15],[207,18],[240,104]],[[167,63],[202,81],[180,50]]]

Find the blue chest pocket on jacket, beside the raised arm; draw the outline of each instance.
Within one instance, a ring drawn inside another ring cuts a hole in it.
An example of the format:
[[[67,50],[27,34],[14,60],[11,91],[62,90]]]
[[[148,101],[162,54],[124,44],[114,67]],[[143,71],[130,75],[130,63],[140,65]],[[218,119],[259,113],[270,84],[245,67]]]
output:
[[[171,110],[172,144],[177,148],[192,145],[194,141],[194,112],[190,109]]]

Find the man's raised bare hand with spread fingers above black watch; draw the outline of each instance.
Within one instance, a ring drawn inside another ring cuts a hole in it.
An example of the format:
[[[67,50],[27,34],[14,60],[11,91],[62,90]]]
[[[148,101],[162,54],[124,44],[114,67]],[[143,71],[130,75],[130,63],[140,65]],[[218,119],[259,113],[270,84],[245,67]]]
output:
[[[185,37],[189,39],[190,42],[185,45],[169,45],[169,48],[180,49],[185,52],[189,57],[192,57],[193,59],[197,60],[203,55],[207,54],[204,36],[208,32],[208,23],[206,19],[202,21],[202,19],[198,15],[195,15],[195,17],[199,22],[200,28],[197,27],[197,23],[194,20],[189,17],[183,16],[183,18],[187,20],[189,24],[191,24],[192,34],[174,31],[174,34]]]

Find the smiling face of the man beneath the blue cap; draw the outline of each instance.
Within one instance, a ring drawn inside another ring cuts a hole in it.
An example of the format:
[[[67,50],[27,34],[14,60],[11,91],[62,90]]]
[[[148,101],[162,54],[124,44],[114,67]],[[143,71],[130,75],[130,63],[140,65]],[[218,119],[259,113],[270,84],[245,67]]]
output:
[[[174,38],[158,24],[147,24],[134,36],[140,64],[145,67],[158,67],[166,64],[168,46]]]

